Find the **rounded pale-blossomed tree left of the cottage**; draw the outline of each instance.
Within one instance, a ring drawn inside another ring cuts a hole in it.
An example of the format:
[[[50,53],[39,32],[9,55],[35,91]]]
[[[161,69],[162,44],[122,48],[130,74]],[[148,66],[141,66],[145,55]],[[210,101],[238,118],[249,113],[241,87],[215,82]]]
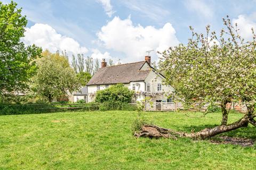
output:
[[[53,98],[68,95],[79,88],[79,82],[65,56],[49,51],[42,53],[43,57],[36,60],[37,74],[33,77],[33,89],[49,102]]]

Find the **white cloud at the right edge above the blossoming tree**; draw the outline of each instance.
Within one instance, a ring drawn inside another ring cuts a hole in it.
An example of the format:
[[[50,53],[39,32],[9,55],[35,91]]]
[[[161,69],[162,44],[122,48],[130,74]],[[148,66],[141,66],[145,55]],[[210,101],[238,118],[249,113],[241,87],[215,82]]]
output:
[[[235,25],[237,23],[237,27],[239,29],[238,33],[245,40],[252,40],[252,28],[254,32],[256,32],[256,13],[251,15],[239,15],[237,19],[233,19],[232,23]]]

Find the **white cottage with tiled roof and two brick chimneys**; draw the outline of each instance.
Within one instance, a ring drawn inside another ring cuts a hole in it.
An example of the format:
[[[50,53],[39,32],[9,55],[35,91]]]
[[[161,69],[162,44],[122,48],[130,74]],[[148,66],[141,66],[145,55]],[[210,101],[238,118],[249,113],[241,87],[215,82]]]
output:
[[[97,90],[103,90],[117,83],[123,83],[124,86],[134,90],[137,101],[150,96],[154,102],[172,102],[172,98],[167,96],[174,89],[163,84],[165,77],[150,66],[150,60],[150,56],[145,56],[145,61],[107,66],[103,59],[101,68],[87,83],[88,102],[94,101]]]

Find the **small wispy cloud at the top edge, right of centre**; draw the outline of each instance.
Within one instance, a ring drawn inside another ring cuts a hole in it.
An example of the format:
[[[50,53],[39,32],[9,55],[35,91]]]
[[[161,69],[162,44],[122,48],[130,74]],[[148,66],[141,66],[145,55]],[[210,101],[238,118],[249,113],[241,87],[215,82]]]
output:
[[[197,12],[200,17],[211,18],[213,16],[213,8],[203,0],[187,0],[185,6],[188,10]]]

